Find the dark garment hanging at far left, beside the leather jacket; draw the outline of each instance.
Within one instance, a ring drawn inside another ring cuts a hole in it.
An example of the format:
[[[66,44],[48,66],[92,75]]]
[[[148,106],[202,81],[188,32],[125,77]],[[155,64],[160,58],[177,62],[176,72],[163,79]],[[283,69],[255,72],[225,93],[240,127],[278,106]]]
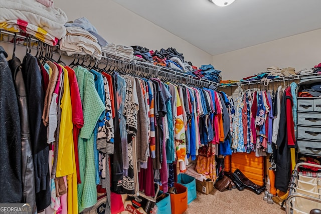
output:
[[[3,186],[1,203],[22,202],[21,174],[21,125],[18,100],[12,74],[7,61],[8,54],[0,46],[0,106],[1,114],[1,167],[0,181]],[[13,167],[15,166],[15,167]],[[8,186],[9,185],[9,186]]]

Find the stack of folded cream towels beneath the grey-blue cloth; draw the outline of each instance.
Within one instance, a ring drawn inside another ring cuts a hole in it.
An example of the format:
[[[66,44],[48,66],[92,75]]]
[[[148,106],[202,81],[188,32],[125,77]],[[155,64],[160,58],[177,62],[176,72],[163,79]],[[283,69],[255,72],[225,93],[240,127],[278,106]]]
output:
[[[101,59],[101,47],[97,38],[80,27],[66,27],[67,34],[60,41],[60,50],[68,56],[73,54],[91,55]]]

